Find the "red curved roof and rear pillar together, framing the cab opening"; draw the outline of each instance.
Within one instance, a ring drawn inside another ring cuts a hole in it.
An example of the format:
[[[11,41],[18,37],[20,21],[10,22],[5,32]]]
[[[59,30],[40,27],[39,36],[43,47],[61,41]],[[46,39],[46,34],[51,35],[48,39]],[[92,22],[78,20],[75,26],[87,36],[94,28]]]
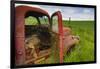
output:
[[[48,13],[42,9],[28,6],[18,6],[15,9],[15,48],[16,48],[16,65],[23,65],[25,63],[25,14],[28,11],[36,11],[45,14]],[[50,17],[49,17],[50,20]]]

